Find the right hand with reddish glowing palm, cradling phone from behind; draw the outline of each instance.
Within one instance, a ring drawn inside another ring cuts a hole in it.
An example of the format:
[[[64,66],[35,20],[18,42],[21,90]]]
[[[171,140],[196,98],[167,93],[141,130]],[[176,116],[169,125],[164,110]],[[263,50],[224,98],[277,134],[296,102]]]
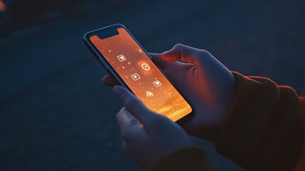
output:
[[[193,108],[193,117],[179,124],[193,136],[215,140],[234,98],[232,73],[208,51],[182,44],[151,57]],[[102,83],[117,84],[112,76]]]

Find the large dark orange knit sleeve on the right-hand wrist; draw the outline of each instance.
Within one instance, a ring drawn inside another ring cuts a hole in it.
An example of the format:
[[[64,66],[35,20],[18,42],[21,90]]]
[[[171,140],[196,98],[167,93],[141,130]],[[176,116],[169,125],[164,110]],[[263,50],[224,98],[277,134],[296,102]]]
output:
[[[268,78],[232,73],[235,100],[216,150],[247,170],[294,170],[304,147],[301,98]]]

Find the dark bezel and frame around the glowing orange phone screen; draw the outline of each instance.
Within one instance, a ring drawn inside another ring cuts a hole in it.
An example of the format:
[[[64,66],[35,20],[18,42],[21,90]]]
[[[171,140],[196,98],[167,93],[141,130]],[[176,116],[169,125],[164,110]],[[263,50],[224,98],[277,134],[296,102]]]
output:
[[[102,66],[106,69],[107,73],[109,73],[110,75],[114,76],[114,78],[117,79],[117,81],[124,86],[125,88],[127,88],[128,90],[130,90],[130,92],[132,92],[132,90],[129,88],[129,86],[127,85],[127,83],[125,83],[123,81],[123,79],[121,78],[121,76],[119,76],[119,74],[117,73],[117,71],[115,71],[115,69],[110,65],[110,63],[106,60],[106,58],[102,55],[102,53],[100,53],[100,51],[98,51],[98,49],[95,47],[95,45],[90,41],[90,36],[94,36],[94,35],[100,35],[101,31],[105,32],[107,30],[111,30],[111,29],[115,29],[117,30],[117,28],[124,28],[127,33],[129,33],[130,36],[132,36],[132,38],[134,39],[134,41],[140,46],[141,50],[146,54],[146,56],[148,56],[151,59],[151,56],[149,55],[149,53],[146,52],[146,50],[141,46],[141,44],[137,41],[136,38],[134,38],[134,36],[132,35],[132,33],[129,32],[129,30],[122,24],[113,24],[111,26],[106,26],[103,28],[99,28],[97,30],[94,31],[90,31],[88,33],[85,33],[84,35],[84,42],[86,44],[86,46],[90,49],[90,51],[95,55],[95,57],[97,58],[97,61],[99,61]],[[99,34],[97,34],[99,33]],[[109,36],[111,37],[111,36]],[[108,37],[107,37],[108,38]],[[152,61],[152,60],[151,60]],[[154,61],[152,61],[154,63]],[[154,63],[154,65],[159,68],[159,71],[161,71],[161,73],[166,77],[166,79],[171,83],[171,85],[173,86],[173,83],[171,82],[171,80],[166,76],[166,74],[164,73],[164,71],[161,70],[161,68],[156,65],[156,63]],[[174,88],[176,88],[175,86],[173,86]],[[178,91],[178,89],[176,88],[176,90]],[[134,93],[134,92],[132,92]],[[178,91],[178,93],[180,93]],[[184,98],[184,100],[186,100],[186,98],[180,93],[180,95]],[[186,100],[186,102],[188,103],[188,105],[191,106],[191,104],[188,102],[188,100]],[[185,120],[187,118],[192,117],[192,113],[193,113],[193,107],[191,106],[191,113],[188,113],[187,115],[183,116],[183,118],[180,118],[179,120],[177,120],[176,122],[181,122],[182,120]]]

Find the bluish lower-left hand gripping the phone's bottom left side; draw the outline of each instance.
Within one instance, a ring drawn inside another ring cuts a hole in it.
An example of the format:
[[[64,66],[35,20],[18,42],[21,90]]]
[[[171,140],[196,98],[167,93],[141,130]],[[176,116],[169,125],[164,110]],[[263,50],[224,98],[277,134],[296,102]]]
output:
[[[142,169],[147,169],[162,155],[193,145],[184,130],[163,115],[152,112],[122,86],[114,86],[114,94],[124,104],[117,113],[123,150]]]

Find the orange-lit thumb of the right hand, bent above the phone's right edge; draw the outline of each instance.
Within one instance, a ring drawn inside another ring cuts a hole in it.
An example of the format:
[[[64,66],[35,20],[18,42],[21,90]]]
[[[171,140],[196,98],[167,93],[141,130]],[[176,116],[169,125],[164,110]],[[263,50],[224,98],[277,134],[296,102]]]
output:
[[[210,63],[216,59],[205,50],[192,48],[183,44],[176,44],[169,51],[161,53],[161,57],[165,61],[183,61],[192,63],[194,66],[202,66],[204,63]]]

